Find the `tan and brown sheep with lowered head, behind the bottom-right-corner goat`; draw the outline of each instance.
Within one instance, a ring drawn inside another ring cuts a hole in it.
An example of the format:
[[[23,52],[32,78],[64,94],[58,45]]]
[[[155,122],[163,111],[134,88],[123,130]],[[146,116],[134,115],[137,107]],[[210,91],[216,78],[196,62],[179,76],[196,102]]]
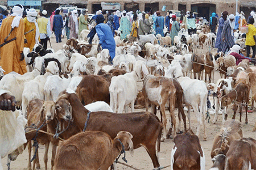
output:
[[[219,154],[226,155],[229,150],[230,143],[236,139],[243,137],[242,124],[236,120],[225,121],[224,127],[221,129],[213,140],[212,151],[210,156],[214,158]]]

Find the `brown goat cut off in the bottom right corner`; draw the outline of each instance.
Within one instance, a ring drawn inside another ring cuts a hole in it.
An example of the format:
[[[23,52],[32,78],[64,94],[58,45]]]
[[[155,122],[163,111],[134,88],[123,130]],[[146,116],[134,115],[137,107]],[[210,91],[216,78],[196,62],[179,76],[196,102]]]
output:
[[[225,169],[256,169],[256,140],[242,138],[233,141],[226,153]]]

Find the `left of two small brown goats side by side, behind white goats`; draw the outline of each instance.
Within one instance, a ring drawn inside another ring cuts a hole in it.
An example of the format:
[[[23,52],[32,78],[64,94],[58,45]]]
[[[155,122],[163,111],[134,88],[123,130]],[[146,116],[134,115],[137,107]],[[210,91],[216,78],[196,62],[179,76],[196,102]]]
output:
[[[204,63],[205,63],[205,59],[203,54],[199,54],[199,55],[197,55],[196,53],[192,54],[192,67],[193,67],[194,79],[196,79],[196,74],[198,74],[198,79],[200,80],[201,72],[204,70]]]

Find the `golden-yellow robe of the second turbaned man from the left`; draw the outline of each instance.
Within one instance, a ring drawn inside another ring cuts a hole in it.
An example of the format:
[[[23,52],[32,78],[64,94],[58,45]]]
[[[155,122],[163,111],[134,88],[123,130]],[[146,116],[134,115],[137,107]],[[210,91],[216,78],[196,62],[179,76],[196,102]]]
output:
[[[27,33],[25,35],[25,37],[27,39],[27,43],[24,46],[24,47],[30,48],[30,52],[32,52],[32,50],[35,46],[36,26],[35,26],[35,23],[28,22],[27,17],[24,18],[23,20],[24,20],[24,25],[25,25],[25,28],[24,28],[25,33],[30,31],[31,29],[34,29],[34,31],[31,31],[30,33]],[[39,36],[38,40],[40,41],[40,36]]]

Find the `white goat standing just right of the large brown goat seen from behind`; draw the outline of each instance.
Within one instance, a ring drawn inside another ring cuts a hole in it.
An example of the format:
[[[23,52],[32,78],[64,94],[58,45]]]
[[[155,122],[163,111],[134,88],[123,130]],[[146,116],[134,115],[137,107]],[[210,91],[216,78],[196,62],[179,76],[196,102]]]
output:
[[[199,135],[200,125],[201,125],[201,116],[203,115],[203,123],[204,123],[204,140],[207,140],[206,134],[206,122],[204,119],[205,111],[206,111],[206,101],[208,90],[205,82],[190,79],[187,76],[183,77],[182,67],[179,62],[171,63],[166,72],[166,77],[168,78],[176,78],[183,88],[184,92],[184,103],[188,107],[188,121],[189,121],[189,129],[191,129],[191,118],[190,118],[190,109],[193,108],[193,111],[197,117],[197,132],[196,135]],[[200,105],[200,112],[199,107]]]

